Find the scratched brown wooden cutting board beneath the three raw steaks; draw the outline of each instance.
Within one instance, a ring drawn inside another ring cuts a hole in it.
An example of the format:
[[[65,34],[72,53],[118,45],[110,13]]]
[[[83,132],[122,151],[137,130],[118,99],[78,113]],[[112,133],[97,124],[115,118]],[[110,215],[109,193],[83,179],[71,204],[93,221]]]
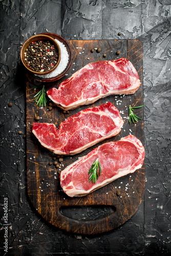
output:
[[[63,114],[62,110],[53,105],[53,110],[48,111],[48,107],[40,108],[35,105],[34,86],[42,84],[27,75],[27,179],[28,179],[28,195],[31,203],[37,212],[49,223],[54,226],[82,234],[94,234],[114,229],[127,220],[129,220],[137,211],[141,204],[144,187],[145,174],[144,164],[141,169],[136,170],[134,174],[121,177],[114,182],[94,191],[92,194],[82,198],[69,198],[61,191],[58,169],[49,162],[54,162],[53,154],[46,148],[42,147],[32,134],[32,123],[35,122],[35,115],[40,116],[39,122],[52,122],[57,127],[60,122],[69,116],[86,109],[88,107],[97,106],[106,101],[112,102],[119,111],[124,120],[121,132],[103,142],[88,148],[86,151],[75,155],[63,157],[61,170],[78,159],[78,157],[87,155],[93,148],[98,145],[119,140],[130,133],[135,135],[144,144],[144,123],[143,108],[136,110],[136,114],[142,119],[135,125],[126,119],[128,116],[128,107],[143,104],[143,76],[142,76],[142,44],[139,40],[71,40],[68,41],[72,49],[73,63],[68,75],[58,81],[51,83],[43,83],[46,89],[58,87],[59,84],[70,77],[74,72],[93,61],[111,60],[121,57],[129,59],[138,71],[141,86],[134,95],[115,95],[99,99],[95,103],[88,106],[81,106],[76,110]],[[91,53],[92,48],[101,48],[101,52]],[[116,55],[117,51],[119,55]],[[104,58],[102,55],[106,54]],[[48,185],[49,184],[49,185]],[[79,207],[99,207],[99,216],[95,220],[91,218],[77,219]],[[100,209],[111,209],[110,214],[103,217]],[[99,217],[99,218],[98,218]]]

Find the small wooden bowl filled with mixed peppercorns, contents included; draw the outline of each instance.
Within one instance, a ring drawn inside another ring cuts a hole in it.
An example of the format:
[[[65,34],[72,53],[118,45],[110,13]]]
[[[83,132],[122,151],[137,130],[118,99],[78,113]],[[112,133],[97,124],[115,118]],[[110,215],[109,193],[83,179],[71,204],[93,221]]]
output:
[[[20,51],[25,68],[33,75],[44,76],[53,72],[59,65],[60,47],[53,37],[38,34],[27,39]]]

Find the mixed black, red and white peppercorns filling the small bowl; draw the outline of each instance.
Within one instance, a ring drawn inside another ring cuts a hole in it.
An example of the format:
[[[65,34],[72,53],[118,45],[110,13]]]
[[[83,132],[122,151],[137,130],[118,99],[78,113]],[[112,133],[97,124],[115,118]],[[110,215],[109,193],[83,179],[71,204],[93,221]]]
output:
[[[36,72],[51,70],[58,60],[56,47],[46,40],[31,42],[24,55],[28,68]]]

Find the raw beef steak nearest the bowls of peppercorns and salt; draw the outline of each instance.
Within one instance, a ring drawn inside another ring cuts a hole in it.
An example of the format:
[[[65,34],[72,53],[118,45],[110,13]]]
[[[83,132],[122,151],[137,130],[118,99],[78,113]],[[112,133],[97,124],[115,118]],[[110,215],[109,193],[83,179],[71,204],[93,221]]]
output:
[[[49,90],[49,98],[63,110],[88,105],[111,94],[133,94],[140,86],[138,73],[125,59],[89,63]]]

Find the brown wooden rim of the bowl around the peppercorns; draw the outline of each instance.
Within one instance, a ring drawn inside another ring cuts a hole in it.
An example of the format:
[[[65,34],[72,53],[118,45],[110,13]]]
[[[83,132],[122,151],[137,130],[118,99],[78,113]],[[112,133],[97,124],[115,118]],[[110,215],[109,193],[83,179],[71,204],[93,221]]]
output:
[[[57,49],[57,51],[58,51],[58,60],[57,60],[57,63],[56,63],[56,65],[54,65],[54,67],[53,67],[52,69],[50,69],[50,70],[48,70],[48,71],[44,71],[44,72],[33,71],[33,70],[31,70],[31,69],[27,66],[27,63],[26,63],[26,61],[25,61],[25,55],[24,55],[24,53],[25,53],[26,49],[28,48],[28,46],[30,45],[31,42],[36,42],[36,41],[38,41],[38,40],[50,41],[50,42],[56,47],[56,49]],[[20,58],[21,58],[21,60],[22,60],[22,62],[23,62],[23,65],[25,66],[25,68],[26,68],[28,71],[30,71],[32,74],[34,74],[34,75],[40,75],[40,76],[41,76],[41,75],[47,75],[47,74],[51,73],[53,70],[55,70],[55,69],[57,68],[57,66],[59,65],[60,56],[61,56],[61,52],[60,52],[60,47],[59,47],[57,41],[55,41],[51,36],[49,36],[49,35],[44,35],[44,34],[39,34],[39,35],[33,35],[33,36],[31,36],[29,39],[27,39],[27,40],[24,42],[24,44],[23,44],[23,46],[22,46],[22,49],[21,49],[21,51],[20,51]]]

